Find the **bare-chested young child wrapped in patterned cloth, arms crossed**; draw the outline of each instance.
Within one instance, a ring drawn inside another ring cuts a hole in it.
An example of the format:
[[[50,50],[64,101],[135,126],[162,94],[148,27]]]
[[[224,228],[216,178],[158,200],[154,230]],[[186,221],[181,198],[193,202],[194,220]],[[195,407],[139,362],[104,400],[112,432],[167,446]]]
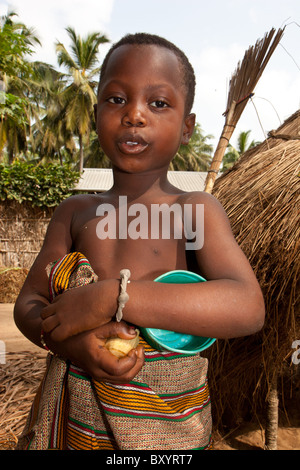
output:
[[[206,359],[158,352],[143,339],[122,359],[104,347],[113,335],[133,338],[129,325],[215,338],[250,335],[263,325],[260,288],[222,207],[207,193],[186,193],[167,180],[170,161],[193,132],[194,88],[185,55],[157,36],[126,36],[103,63],[95,116],[114,183],[105,193],[74,196],[57,208],[16,302],[20,330],[55,353],[48,355],[18,448],[211,446]],[[161,227],[153,236],[151,211],[175,204],[190,209],[181,223],[183,236],[178,226],[169,237]],[[129,231],[136,221],[133,207],[148,214],[139,219],[139,238]],[[188,245],[189,238],[203,243]],[[47,265],[78,253],[98,282],[62,290],[51,301]],[[131,272],[129,300],[123,321],[116,322],[123,268]],[[207,282],[153,282],[178,269],[201,273]]]

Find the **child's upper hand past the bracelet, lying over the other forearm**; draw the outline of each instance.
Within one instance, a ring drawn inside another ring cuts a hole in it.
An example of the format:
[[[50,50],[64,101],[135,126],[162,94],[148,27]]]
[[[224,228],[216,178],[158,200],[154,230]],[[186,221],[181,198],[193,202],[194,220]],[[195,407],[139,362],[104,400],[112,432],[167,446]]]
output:
[[[111,321],[117,309],[118,281],[96,282],[66,291],[43,308],[42,329],[63,341]],[[108,313],[113,312],[113,313]]]

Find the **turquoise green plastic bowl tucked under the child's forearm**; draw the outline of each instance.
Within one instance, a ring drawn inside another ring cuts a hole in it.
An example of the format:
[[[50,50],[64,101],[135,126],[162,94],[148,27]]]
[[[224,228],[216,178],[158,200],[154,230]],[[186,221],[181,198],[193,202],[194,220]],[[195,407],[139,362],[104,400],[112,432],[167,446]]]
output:
[[[206,279],[199,274],[183,270],[169,271],[155,279],[155,282],[166,284],[190,284],[205,281]],[[187,335],[157,328],[140,328],[140,331],[145,340],[155,349],[188,355],[204,351],[216,341],[215,338]]]

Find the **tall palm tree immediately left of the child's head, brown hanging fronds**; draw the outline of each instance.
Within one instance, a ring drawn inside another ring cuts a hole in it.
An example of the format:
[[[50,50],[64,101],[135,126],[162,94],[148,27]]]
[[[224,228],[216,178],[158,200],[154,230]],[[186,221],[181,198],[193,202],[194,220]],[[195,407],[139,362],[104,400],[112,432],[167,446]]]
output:
[[[64,119],[66,129],[78,136],[79,140],[79,170],[83,171],[83,143],[88,139],[94,119],[93,106],[97,101],[95,89],[100,67],[97,65],[98,47],[108,42],[100,34],[88,34],[85,39],[77,35],[73,28],[66,29],[72,41],[69,53],[65,46],[56,43],[59,65],[67,69],[65,74],[67,85],[63,91],[65,103]]]

